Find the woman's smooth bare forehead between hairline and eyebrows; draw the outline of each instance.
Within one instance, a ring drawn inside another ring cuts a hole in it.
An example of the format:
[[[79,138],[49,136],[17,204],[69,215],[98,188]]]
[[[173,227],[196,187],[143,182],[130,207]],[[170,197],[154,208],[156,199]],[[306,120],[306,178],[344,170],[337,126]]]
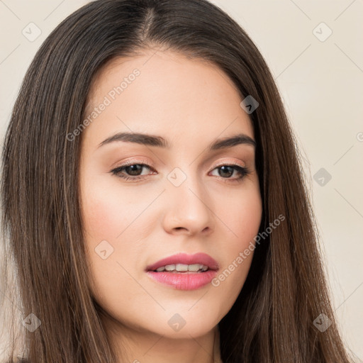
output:
[[[198,141],[236,132],[253,138],[241,101],[240,91],[216,65],[169,50],[145,51],[115,58],[96,75],[84,115],[95,117],[84,133],[94,143],[120,131],[168,140],[189,136]]]

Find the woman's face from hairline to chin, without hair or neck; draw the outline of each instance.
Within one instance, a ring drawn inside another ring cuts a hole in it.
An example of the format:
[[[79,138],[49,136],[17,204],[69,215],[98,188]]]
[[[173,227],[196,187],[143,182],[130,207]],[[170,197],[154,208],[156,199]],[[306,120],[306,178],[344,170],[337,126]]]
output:
[[[82,218],[91,293],[113,328],[196,337],[233,306],[262,216],[241,101],[220,69],[170,51],[97,76],[79,128]]]

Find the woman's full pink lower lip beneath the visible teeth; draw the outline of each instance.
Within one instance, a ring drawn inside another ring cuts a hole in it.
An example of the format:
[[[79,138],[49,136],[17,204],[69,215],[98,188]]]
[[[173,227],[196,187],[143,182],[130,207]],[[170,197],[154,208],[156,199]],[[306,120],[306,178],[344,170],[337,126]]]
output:
[[[147,271],[147,274],[155,281],[173,286],[177,290],[196,290],[208,285],[216,277],[217,272],[211,269],[194,274],[155,271]]]

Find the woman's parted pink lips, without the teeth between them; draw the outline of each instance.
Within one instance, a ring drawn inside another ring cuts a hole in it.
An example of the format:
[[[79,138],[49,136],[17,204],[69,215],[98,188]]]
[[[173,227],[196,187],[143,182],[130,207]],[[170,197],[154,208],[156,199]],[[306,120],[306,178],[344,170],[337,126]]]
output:
[[[205,272],[155,272],[155,269],[167,264],[204,264],[209,267]],[[162,284],[173,286],[178,290],[196,290],[206,286],[216,277],[218,263],[211,256],[205,253],[196,253],[195,255],[186,255],[179,253],[151,264],[146,268],[147,274]]]

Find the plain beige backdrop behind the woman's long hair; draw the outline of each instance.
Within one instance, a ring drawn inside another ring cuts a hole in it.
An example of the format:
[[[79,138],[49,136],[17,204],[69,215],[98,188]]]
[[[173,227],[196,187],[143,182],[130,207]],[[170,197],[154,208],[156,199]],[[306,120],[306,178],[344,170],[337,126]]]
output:
[[[1,145],[35,52],[87,2],[0,0]],[[306,158],[337,318],[363,359],[363,1],[212,2],[247,30],[277,81]],[[41,30],[33,42],[22,33],[31,22]]]

